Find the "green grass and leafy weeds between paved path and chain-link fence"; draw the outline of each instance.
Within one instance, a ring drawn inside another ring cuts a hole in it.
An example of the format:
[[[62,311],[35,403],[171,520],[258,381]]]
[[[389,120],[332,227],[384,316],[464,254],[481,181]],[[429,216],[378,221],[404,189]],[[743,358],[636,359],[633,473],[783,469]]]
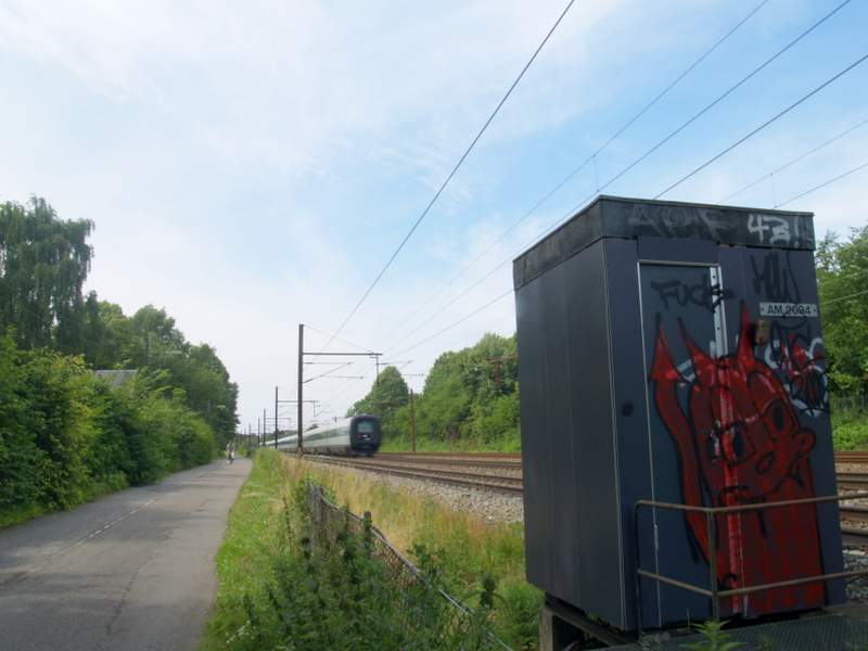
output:
[[[311,524],[309,464],[284,464],[264,450],[232,508],[218,553],[220,587],[201,651],[312,651],[489,648],[485,633],[495,597],[486,578],[470,617],[442,598],[438,552],[417,546],[426,582],[396,583],[373,553],[373,533],[348,520]],[[332,494],[335,498],[336,495]]]

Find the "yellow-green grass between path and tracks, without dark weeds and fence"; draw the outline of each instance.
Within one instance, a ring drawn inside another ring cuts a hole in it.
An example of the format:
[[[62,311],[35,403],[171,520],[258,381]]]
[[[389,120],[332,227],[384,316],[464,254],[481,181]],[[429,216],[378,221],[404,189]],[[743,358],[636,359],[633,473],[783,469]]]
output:
[[[299,570],[307,557],[297,549],[288,553],[282,548],[288,525],[281,516],[284,497],[291,496],[307,477],[328,486],[337,503],[346,505],[352,511],[370,511],[374,525],[393,545],[418,564],[435,567],[447,590],[470,605],[476,607],[486,600],[486,591],[481,587],[496,579],[496,596],[489,603],[497,634],[514,649],[536,648],[536,617],[541,595],[524,580],[520,525],[485,523],[441,507],[431,499],[390,489],[354,473],[323,469],[265,450],[256,455],[251,476],[229,515],[227,536],[217,558],[220,580],[217,604],[200,651],[246,648],[240,646],[239,631],[250,630],[252,620],[259,622],[260,629],[268,628],[268,635],[272,636],[259,640],[265,643],[263,648],[278,648],[273,646],[278,639],[295,639],[294,633],[284,634],[284,637],[275,634],[281,626],[290,630],[285,622],[265,624],[266,617],[256,613],[265,612],[269,601],[276,602],[273,593],[280,595],[280,576],[298,572],[298,576],[308,577],[293,579],[292,593],[307,589],[305,586],[309,584],[309,572]],[[297,528],[297,524],[290,524],[289,528]],[[276,562],[276,559],[283,560]],[[294,570],[289,572],[288,566]],[[310,601],[319,600],[320,595]],[[257,603],[265,607],[258,608]],[[378,608],[383,609],[385,618],[385,603]],[[282,620],[292,608],[283,603],[279,612]],[[307,616],[316,618],[328,614],[328,609],[320,605]],[[291,630],[297,628],[296,622]],[[307,647],[299,641],[298,647],[285,648]],[[391,647],[383,640],[382,646],[372,648]]]

